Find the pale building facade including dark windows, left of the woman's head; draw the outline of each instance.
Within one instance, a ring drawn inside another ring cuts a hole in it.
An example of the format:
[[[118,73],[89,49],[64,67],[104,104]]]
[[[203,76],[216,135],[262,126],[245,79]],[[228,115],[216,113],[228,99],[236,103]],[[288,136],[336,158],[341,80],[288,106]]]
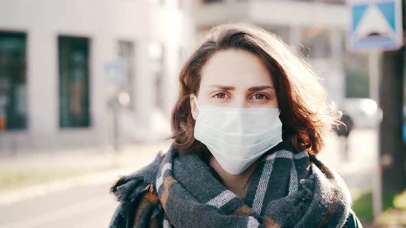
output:
[[[0,9],[0,152],[169,136],[195,41],[191,1],[13,0]]]

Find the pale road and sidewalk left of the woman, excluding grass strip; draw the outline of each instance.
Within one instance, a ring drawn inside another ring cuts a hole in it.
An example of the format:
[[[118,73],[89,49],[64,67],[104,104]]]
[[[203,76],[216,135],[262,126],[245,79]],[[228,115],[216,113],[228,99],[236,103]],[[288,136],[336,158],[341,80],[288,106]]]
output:
[[[111,183],[120,175],[142,168],[167,146],[129,146],[118,155],[78,151],[77,155],[63,153],[25,159],[3,158],[0,166],[54,163],[55,166],[70,164],[109,169],[0,194],[0,227],[107,227],[116,207],[114,197],[109,195]]]

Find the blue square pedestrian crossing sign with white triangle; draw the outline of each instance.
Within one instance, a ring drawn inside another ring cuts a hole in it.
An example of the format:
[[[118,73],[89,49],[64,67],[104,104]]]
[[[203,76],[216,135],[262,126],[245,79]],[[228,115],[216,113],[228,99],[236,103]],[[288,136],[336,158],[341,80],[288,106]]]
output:
[[[400,0],[352,0],[350,6],[350,49],[396,49],[403,45]]]

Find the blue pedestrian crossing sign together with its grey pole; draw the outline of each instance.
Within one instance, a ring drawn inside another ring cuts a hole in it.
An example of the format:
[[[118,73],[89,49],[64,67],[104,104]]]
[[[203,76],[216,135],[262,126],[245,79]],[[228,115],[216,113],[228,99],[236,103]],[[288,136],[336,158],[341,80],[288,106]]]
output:
[[[402,4],[400,0],[348,0],[350,23],[348,47],[352,51],[369,49],[370,99],[377,104],[376,155],[372,205],[374,216],[382,212],[382,166],[388,159],[381,156],[380,126],[382,111],[379,105],[380,58],[383,50],[396,49],[403,45]]]

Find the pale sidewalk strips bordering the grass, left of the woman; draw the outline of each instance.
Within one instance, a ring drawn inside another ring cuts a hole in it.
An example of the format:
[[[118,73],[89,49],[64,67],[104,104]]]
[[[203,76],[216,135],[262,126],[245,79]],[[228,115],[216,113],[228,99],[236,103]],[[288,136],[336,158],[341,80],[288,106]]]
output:
[[[74,173],[66,177],[59,176],[52,181],[43,181],[25,187],[14,187],[14,189],[0,191],[0,205],[79,185],[112,183],[118,176],[129,174],[146,166],[160,150],[166,152],[170,143],[170,141],[163,141],[156,144],[128,145],[124,146],[118,153],[113,150],[100,151],[97,148],[82,148],[52,153],[36,152],[32,155],[24,154],[14,157],[2,156],[0,157],[0,172],[7,171],[12,174],[21,171],[61,172],[61,170],[72,170]]]

